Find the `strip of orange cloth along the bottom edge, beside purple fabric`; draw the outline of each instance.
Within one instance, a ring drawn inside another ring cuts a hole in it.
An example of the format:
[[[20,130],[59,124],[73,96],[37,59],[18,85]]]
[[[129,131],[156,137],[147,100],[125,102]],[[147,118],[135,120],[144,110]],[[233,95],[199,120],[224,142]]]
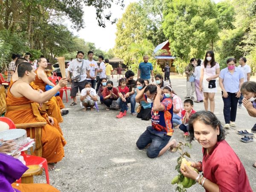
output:
[[[60,192],[55,187],[45,183],[12,183],[12,187],[21,192]]]

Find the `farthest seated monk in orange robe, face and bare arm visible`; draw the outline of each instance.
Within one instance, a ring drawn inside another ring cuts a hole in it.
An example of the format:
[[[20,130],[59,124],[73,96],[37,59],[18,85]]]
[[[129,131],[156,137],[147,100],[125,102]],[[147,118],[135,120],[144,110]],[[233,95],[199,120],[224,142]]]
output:
[[[46,58],[39,58],[38,59],[38,65],[39,67],[35,70],[36,76],[35,76],[35,84],[41,89],[42,91],[45,91],[45,86],[47,84],[51,86],[55,86],[48,78],[47,74],[45,73],[45,68],[47,67],[47,60]],[[63,104],[61,98],[59,96],[55,96],[57,99],[57,102],[61,109],[65,108],[65,105]]]

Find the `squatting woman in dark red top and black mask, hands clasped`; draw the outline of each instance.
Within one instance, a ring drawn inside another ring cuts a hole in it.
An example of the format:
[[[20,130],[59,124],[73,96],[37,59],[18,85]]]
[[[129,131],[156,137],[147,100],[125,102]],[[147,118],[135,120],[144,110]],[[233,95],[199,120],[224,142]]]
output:
[[[113,81],[107,82],[107,87],[102,92],[103,103],[107,106],[106,110],[109,111],[112,102],[118,99],[118,91],[113,87]]]

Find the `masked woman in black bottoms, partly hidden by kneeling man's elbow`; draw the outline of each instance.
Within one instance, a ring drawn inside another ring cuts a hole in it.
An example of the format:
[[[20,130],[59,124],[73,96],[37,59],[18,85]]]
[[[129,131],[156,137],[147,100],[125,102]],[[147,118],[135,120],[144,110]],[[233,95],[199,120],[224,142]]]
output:
[[[148,80],[147,80],[148,81]],[[134,90],[135,94],[140,93],[140,90],[142,90],[146,85],[144,82],[144,79],[137,79],[136,81],[137,88]],[[151,119],[151,103],[148,103],[146,101],[141,101],[139,105],[139,111],[137,109],[137,118],[141,118],[142,120],[149,120]]]

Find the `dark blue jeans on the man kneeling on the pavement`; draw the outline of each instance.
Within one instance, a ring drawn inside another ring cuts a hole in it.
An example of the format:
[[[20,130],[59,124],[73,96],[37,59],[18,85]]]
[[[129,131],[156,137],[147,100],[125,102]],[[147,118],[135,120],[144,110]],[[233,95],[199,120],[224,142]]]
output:
[[[151,143],[147,150],[149,158],[155,158],[159,155],[160,151],[167,145],[171,136],[164,133],[157,133],[153,130],[152,126],[148,126],[146,131],[140,135],[137,140],[137,147],[141,150]]]

